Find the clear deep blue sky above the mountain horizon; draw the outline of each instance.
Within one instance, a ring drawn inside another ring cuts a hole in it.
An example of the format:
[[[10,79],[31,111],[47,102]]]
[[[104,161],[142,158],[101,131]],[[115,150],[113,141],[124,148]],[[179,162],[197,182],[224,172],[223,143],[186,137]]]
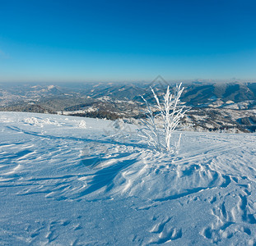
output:
[[[254,0],[0,0],[0,81],[256,79]]]

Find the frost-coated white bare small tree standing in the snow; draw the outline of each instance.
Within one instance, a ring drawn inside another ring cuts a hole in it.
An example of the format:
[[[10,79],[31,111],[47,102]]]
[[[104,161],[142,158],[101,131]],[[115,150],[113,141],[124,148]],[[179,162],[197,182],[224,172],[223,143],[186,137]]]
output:
[[[175,92],[170,92],[170,87],[167,87],[164,95],[164,101],[161,103],[157,97],[154,89],[151,88],[151,92],[156,100],[156,112],[159,112],[161,122],[157,122],[156,116],[152,110],[152,107],[147,103],[147,100],[142,97],[146,103],[146,115],[147,119],[142,120],[142,129],[139,130],[140,135],[147,139],[147,143],[151,146],[160,149],[175,152],[179,149],[179,139],[175,144],[171,144],[172,133],[174,132],[180,120],[184,117],[184,106],[179,105],[179,98],[184,91],[184,87],[181,87],[182,83],[176,84]]]

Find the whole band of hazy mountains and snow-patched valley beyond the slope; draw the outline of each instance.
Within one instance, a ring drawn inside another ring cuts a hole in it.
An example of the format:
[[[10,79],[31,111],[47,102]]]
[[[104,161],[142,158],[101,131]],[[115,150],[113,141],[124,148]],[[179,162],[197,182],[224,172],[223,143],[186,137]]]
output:
[[[0,84],[0,111],[48,112],[107,119],[141,118],[142,97],[163,98],[165,81],[148,83]],[[175,84],[170,84],[174,89]],[[256,83],[184,84],[181,101],[192,107],[184,125],[195,130],[256,129]]]

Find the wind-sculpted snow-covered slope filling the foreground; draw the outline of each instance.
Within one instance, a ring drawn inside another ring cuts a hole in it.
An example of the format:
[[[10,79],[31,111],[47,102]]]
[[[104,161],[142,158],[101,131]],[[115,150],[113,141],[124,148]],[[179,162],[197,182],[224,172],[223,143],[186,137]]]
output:
[[[255,189],[255,134],[171,156],[134,125],[0,112],[1,245],[256,245]]]

